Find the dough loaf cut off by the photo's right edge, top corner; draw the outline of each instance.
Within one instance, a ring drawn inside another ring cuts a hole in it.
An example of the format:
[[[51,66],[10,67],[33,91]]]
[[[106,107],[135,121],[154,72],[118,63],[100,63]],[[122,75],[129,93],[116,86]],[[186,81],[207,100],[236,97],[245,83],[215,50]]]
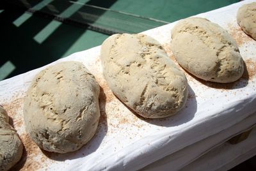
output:
[[[256,2],[244,4],[237,11],[237,23],[244,33],[256,40]]]

